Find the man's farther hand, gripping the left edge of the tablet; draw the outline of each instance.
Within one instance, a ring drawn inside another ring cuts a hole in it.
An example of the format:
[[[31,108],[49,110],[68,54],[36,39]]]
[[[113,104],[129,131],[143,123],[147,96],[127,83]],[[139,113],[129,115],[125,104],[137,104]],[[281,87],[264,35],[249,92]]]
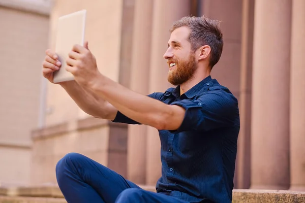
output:
[[[62,64],[58,60],[58,56],[50,49],[46,50],[45,60],[42,62],[42,75],[48,79],[51,83],[53,82],[53,73],[60,69]]]

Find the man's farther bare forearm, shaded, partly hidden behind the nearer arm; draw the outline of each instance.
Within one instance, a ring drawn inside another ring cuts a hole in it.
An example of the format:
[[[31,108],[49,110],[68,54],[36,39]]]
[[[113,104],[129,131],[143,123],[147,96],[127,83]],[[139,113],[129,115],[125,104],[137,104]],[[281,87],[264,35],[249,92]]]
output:
[[[114,119],[111,105],[103,98],[95,96],[89,90],[79,86],[75,81],[60,84],[75,101],[77,106],[89,115],[103,119]]]

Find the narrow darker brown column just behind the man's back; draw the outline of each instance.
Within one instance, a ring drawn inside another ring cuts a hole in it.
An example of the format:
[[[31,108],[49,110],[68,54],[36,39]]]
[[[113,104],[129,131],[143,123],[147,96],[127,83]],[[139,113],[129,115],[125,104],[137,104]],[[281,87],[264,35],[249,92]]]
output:
[[[252,56],[254,0],[242,1],[241,25],[241,63],[239,114],[240,131],[237,143],[236,185],[235,188],[250,187],[251,170],[251,92],[252,92]]]

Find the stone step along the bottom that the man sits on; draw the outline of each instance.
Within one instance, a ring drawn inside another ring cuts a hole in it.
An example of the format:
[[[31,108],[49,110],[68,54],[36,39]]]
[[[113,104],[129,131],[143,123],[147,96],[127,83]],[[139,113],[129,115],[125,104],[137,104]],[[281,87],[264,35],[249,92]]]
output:
[[[140,186],[156,191],[154,186]],[[305,192],[234,189],[232,203],[305,203]],[[57,186],[1,188],[0,203],[67,203]],[[136,202],[135,202],[136,203]]]

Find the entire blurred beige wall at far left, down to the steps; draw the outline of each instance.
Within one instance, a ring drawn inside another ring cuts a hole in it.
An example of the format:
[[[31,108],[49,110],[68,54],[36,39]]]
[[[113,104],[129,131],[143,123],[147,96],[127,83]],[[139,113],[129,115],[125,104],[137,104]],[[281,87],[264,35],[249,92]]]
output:
[[[0,183],[28,184],[31,130],[39,121],[45,15],[0,4]]]

